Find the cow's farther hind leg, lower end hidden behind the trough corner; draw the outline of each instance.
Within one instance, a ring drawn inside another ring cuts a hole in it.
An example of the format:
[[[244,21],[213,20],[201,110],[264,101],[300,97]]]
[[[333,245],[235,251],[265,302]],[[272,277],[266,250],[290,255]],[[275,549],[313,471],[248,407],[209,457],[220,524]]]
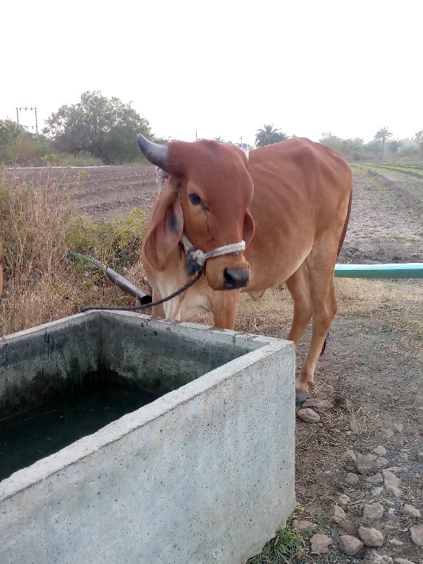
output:
[[[287,338],[298,345],[312,319],[312,301],[310,300],[309,278],[305,262],[288,278],[286,286],[294,302],[293,322]]]

